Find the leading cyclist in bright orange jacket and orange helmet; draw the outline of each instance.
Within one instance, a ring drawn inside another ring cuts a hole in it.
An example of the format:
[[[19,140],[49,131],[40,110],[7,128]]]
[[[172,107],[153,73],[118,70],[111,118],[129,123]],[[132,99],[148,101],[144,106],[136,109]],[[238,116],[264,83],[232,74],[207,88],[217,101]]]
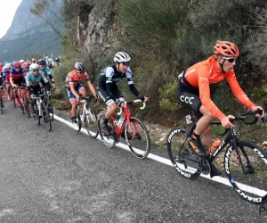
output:
[[[198,154],[205,157],[206,151],[203,146],[209,148],[212,145],[212,127],[209,123],[214,119],[222,121],[223,128],[231,128],[234,125],[223,111],[214,104],[210,97],[210,85],[221,82],[224,78],[231,87],[233,95],[240,103],[243,103],[252,111],[262,110],[251,102],[244,91],[239,87],[239,82],[234,72],[236,59],[239,56],[238,47],[228,41],[217,41],[214,45],[214,55],[206,61],[198,62],[179,75],[177,97],[182,103],[186,103],[196,111],[198,123],[190,138],[190,147]],[[264,111],[261,117],[263,117]],[[260,115],[257,115],[260,116]],[[202,143],[200,136],[202,135]],[[202,145],[203,144],[203,145]],[[214,176],[222,173],[212,165]]]

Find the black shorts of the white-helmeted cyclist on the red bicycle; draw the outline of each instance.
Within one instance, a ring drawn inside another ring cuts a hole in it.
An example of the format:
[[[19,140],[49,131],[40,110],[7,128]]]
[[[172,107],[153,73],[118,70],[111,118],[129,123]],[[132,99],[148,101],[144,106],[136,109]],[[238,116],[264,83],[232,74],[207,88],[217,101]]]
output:
[[[114,99],[110,98],[109,93],[106,91],[106,87],[98,86],[97,88],[98,94],[101,96],[101,99],[109,106],[111,103],[115,103]],[[112,85],[111,92],[115,95],[119,101],[124,102],[125,98],[121,94],[120,90],[118,89],[117,85]]]

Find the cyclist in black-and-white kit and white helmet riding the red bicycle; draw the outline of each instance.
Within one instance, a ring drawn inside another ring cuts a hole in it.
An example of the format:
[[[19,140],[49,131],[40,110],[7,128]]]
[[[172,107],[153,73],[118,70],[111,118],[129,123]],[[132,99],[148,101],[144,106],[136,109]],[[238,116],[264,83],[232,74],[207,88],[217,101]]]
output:
[[[147,96],[140,95],[138,90],[134,87],[132,71],[129,67],[130,60],[130,56],[125,52],[117,52],[114,56],[115,64],[102,70],[101,76],[98,80],[98,93],[109,108],[106,112],[105,120],[102,123],[105,135],[107,136],[110,135],[110,129],[108,126],[109,118],[116,112],[117,105],[120,106],[125,101],[124,96],[117,87],[117,81],[121,78],[127,78],[131,92],[143,102],[147,102],[149,100]]]

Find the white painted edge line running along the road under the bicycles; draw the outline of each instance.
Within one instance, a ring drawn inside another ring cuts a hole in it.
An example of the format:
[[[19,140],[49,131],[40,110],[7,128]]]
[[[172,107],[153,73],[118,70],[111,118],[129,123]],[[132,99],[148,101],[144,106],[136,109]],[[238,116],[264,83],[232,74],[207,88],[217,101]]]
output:
[[[70,121],[68,121],[68,120],[64,120],[64,119],[62,119],[61,117],[59,117],[59,116],[57,116],[57,115],[53,115],[53,118],[54,118],[55,120],[59,120],[59,121],[65,123],[65,124],[68,125],[70,128],[75,129]],[[82,133],[84,133],[85,135],[89,136],[89,135],[88,135],[88,132],[87,132],[87,130],[86,130],[85,128],[81,128],[80,131],[81,131]],[[101,140],[101,136],[97,136],[97,139],[98,139],[98,140]],[[124,149],[125,151],[131,152],[130,149],[129,149],[129,147],[128,147],[128,145],[121,144],[121,143],[117,143],[116,146],[117,146],[118,148]],[[158,162],[161,162],[161,163],[163,163],[163,164],[166,164],[166,165],[168,165],[168,166],[173,167],[173,164],[172,164],[172,162],[171,162],[170,160],[168,160],[168,159],[166,159],[166,158],[163,158],[163,157],[160,157],[160,156],[158,156],[158,155],[155,155],[155,154],[150,153],[150,154],[148,155],[148,158],[151,159],[151,160],[153,160],[153,161],[158,161]],[[214,177],[214,178],[210,178],[209,175],[204,175],[204,174],[201,174],[200,176],[201,176],[202,178],[207,178],[207,179],[213,180],[213,181],[215,181],[215,182],[221,183],[221,184],[226,185],[226,186],[231,186],[231,183],[229,182],[229,179],[228,179],[228,178],[223,178],[223,177]],[[267,194],[267,191],[258,189],[258,188],[253,187],[253,186],[247,186],[247,185],[243,185],[243,184],[240,184],[240,183],[239,183],[238,185],[239,185],[239,188],[240,188],[240,187],[243,187],[242,190],[247,191],[247,192],[249,192],[249,193],[258,194],[258,195],[261,195],[261,196],[263,196],[264,194]],[[246,188],[246,189],[245,189],[245,188]]]

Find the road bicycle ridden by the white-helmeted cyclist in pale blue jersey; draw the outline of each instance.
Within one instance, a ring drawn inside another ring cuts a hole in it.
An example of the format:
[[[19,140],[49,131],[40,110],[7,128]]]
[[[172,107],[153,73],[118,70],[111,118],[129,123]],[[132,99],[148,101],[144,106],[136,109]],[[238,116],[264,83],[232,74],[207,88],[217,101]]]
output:
[[[44,122],[45,128],[49,131],[52,130],[52,122],[50,118],[50,111],[48,105],[44,102],[44,95],[46,93],[43,91],[38,95],[32,96],[32,100],[34,100],[34,109],[36,111],[36,115],[34,116],[36,123],[40,126],[41,119]]]

